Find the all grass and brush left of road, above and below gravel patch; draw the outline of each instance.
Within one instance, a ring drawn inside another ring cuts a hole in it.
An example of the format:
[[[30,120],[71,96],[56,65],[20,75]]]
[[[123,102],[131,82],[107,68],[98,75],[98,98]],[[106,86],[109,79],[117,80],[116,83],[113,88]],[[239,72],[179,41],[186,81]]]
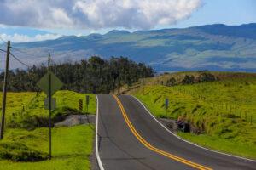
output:
[[[2,95],[2,94],[0,94]],[[85,96],[90,96],[89,114],[96,113],[94,94],[59,91],[53,122],[69,115],[87,113]],[[94,133],[89,125],[53,127],[52,154],[49,153],[49,111],[44,110],[43,93],[8,93],[6,130],[0,141],[0,169],[90,169],[90,154]],[[84,110],[79,111],[79,99]]]

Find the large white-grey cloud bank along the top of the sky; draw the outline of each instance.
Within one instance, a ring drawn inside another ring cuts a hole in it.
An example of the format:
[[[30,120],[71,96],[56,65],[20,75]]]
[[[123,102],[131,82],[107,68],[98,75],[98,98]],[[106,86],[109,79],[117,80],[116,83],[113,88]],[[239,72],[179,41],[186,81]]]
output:
[[[150,29],[188,18],[202,0],[2,0],[0,24],[39,28]]]

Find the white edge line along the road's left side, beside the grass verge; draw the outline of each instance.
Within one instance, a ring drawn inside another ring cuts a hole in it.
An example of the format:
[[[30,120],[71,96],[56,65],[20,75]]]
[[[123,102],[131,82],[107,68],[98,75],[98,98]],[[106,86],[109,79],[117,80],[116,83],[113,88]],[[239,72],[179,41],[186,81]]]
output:
[[[99,116],[99,99],[96,94],[96,101],[97,101],[97,111],[96,111],[96,134],[95,134],[95,152],[96,152],[96,159],[98,162],[98,166],[100,167],[100,170],[104,170],[104,167],[102,166],[102,160],[99,155],[99,145],[98,145],[98,116]]]

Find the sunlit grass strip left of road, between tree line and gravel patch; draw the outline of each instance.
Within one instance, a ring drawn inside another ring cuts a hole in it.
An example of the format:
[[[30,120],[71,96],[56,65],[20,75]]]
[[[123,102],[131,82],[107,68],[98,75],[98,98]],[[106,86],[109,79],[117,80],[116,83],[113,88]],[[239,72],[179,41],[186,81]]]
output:
[[[79,109],[79,99],[83,99],[84,112],[86,111],[85,96],[90,96],[90,103],[88,112],[90,114],[96,113],[96,97],[94,94],[79,94],[73,91],[58,91],[53,98],[56,99],[56,108],[68,107],[71,109]],[[0,93],[2,97],[2,93]],[[46,95],[40,93],[28,92],[28,93],[8,93],[7,94],[7,108],[6,108],[6,120],[7,122],[12,119],[13,115],[29,115],[29,116],[48,116],[49,111],[44,109],[44,99]],[[2,99],[0,100],[2,105]],[[24,110],[23,110],[24,107]]]

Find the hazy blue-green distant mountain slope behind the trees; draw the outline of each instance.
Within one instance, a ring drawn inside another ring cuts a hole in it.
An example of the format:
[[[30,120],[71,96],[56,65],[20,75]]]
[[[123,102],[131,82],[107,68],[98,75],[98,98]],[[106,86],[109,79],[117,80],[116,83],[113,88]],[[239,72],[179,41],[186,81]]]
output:
[[[110,31],[105,35],[61,37],[44,42],[16,43],[44,61],[48,51],[55,60],[126,56],[152,65],[156,71],[256,71],[256,24],[208,25],[154,31]],[[21,55],[21,54],[19,54]],[[44,56],[44,57],[43,57]]]

